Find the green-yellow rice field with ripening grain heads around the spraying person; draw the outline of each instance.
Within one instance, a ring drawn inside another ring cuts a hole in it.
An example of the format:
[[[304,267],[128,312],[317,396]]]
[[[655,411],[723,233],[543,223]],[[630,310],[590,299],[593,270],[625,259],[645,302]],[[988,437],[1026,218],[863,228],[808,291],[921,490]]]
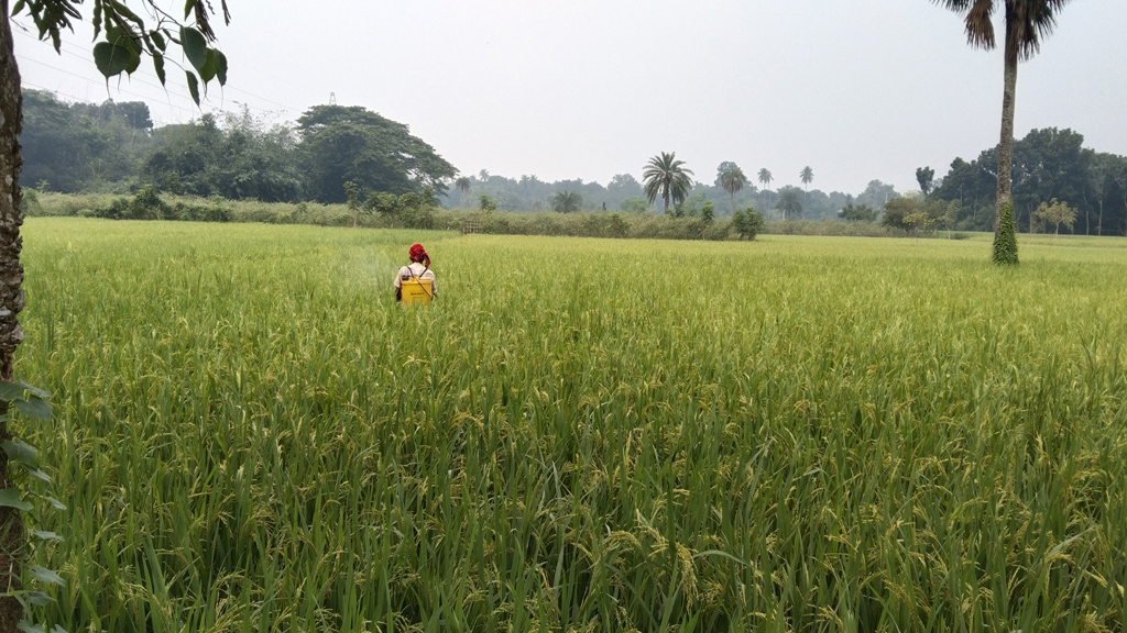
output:
[[[1127,627],[1121,239],[24,235],[72,633]]]

